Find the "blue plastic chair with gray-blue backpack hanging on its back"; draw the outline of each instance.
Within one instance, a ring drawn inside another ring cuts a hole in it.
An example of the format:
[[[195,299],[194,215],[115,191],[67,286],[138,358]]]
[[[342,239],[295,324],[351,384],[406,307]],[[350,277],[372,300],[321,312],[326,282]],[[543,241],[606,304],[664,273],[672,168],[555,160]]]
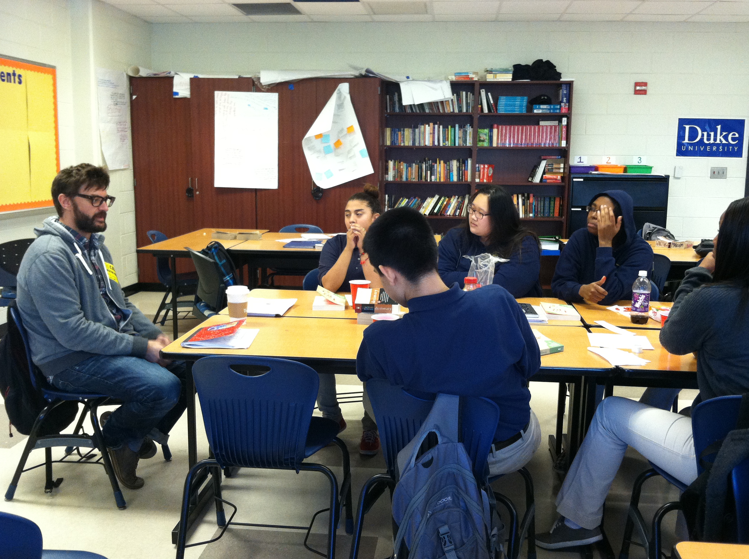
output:
[[[381,379],[367,381],[367,392],[372,401],[372,409],[375,412],[375,421],[377,421],[377,430],[380,433],[380,443],[387,471],[384,474],[370,477],[364,483],[357,507],[350,559],[356,559],[359,553],[364,515],[375,504],[385,488],[390,490],[392,496],[392,490],[396,483],[395,472],[397,471],[398,452],[419,432],[434,403],[434,400],[423,400],[408,394],[400,386],[391,385]],[[488,480],[486,479],[487,457],[494,440],[494,432],[497,430],[499,418],[500,410],[493,401],[486,398],[461,398],[462,442],[468,456],[473,461],[473,474],[476,475],[477,480],[482,480],[483,485],[489,492],[491,492],[491,487],[488,486]],[[512,501],[504,495],[494,493],[494,497],[509,510],[511,523],[508,557],[515,559],[517,511]]]

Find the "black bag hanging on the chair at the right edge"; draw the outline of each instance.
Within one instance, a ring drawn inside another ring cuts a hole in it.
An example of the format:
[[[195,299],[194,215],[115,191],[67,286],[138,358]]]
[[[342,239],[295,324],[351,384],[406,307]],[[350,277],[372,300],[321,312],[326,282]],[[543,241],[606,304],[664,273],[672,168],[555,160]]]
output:
[[[715,461],[706,456],[715,454]],[[682,493],[689,539],[704,542],[737,542],[736,503],[733,500],[731,471],[749,458],[749,394],[742,395],[736,429],[725,439],[708,445],[700,453],[704,471]]]

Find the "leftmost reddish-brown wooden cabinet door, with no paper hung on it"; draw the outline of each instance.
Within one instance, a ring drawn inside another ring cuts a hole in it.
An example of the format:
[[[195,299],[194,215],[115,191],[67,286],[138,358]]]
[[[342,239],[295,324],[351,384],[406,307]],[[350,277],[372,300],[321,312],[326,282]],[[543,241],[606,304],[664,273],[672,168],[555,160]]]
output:
[[[146,232],[168,237],[194,230],[193,200],[185,191],[190,168],[190,100],[172,97],[172,78],[130,78],[133,98],[133,176],[136,243],[148,245]],[[181,262],[178,271],[192,263]],[[159,281],[156,259],[138,255],[138,281]]]

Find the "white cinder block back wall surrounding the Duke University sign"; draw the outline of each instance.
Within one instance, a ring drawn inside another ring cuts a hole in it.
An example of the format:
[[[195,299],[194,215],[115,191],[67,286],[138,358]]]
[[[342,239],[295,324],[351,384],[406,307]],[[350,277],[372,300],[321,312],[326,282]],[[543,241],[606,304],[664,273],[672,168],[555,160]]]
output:
[[[599,17],[599,16],[595,16]],[[268,19],[271,19],[270,16]],[[154,24],[158,70],[249,74],[344,70],[444,79],[455,70],[557,64],[574,78],[573,155],[646,156],[671,180],[668,227],[676,236],[715,236],[718,216],[744,195],[743,159],[676,157],[679,117],[749,113],[749,24],[660,22],[413,22]],[[634,82],[648,82],[635,96]],[[728,168],[710,180],[709,167]]]

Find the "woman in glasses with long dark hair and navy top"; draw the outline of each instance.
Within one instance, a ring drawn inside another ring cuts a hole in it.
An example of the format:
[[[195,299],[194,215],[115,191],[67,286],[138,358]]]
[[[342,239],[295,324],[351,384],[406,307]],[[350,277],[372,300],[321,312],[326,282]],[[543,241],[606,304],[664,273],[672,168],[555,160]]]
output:
[[[470,198],[464,224],[449,230],[438,245],[437,268],[447,286],[463,281],[470,269],[464,256],[494,254],[509,262],[494,267],[494,281],[515,297],[542,296],[541,251],[536,233],[521,226],[512,196],[502,186],[486,186]]]

